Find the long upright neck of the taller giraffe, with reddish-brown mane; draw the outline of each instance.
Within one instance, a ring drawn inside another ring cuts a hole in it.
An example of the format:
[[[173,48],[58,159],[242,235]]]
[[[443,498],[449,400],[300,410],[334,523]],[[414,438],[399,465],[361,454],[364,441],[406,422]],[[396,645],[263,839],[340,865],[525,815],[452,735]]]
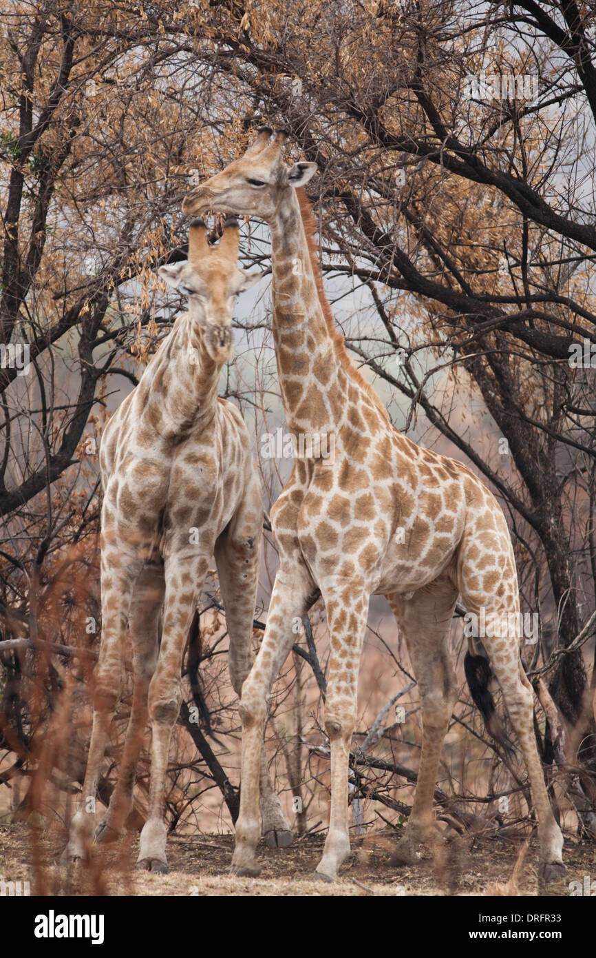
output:
[[[345,415],[347,376],[320,305],[295,190],[270,226],[273,331],[288,428],[295,434],[333,432]]]

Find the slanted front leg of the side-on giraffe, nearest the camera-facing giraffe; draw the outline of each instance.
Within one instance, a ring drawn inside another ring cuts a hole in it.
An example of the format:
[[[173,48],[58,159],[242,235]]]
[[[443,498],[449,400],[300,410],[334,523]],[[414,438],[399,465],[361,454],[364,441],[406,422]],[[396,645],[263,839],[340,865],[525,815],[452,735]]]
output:
[[[263,774],[262,745],[267,702],[276,675],[296,638],[292,631],[294,619],[304,615],[312,592],[313,583],[303,567],[295,567],[288,572],[281,568],[277,571],[265,635],[254,666],[242,686],[239,707],[242,719],[242,785],[232,857],[234,875],[255,876],[260,872],[255,851],[260,835],[259,787]]]

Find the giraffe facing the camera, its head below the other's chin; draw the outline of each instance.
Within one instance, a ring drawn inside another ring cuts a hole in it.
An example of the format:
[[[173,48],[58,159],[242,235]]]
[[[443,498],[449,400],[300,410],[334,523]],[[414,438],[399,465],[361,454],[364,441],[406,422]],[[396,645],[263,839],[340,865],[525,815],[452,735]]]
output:
[[[188,630],[213,555],[237,695],[253,661],[261,490],[242,417],[231,402],[217,396],[222,366],[232,354],[236,298],[261,275],[239,269],[237,254],[237,220],[227,219],[216,245],[208,242],[205,222],[193,220],[188,261],[170,262],[159,269],[167,285],[188,297],[188,312],[176,319],[139,384],[103,433],[99,451],[101,642],[94,676],[93,730],[80,807],[64,861],[82,858],[93,837],[99,768],[121,696],[128,630],[134,653],[133,704],[118,782],[96,840],[110,841],[122,832],[132,807],[148,715],[152,732],[149,803],[138,867],[167,872],[168,748],[182,701],[181,668]],[[263,833],[271,847],[287,845],[293,835],[271,785],[262,748],[259,781]]]

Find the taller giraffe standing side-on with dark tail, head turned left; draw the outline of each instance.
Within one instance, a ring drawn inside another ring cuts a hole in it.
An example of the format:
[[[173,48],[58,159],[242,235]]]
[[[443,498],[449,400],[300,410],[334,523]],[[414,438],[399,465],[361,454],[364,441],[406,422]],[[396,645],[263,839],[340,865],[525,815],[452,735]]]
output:
[[[517,613],[513,547],[497,500],[453,459],[410,442],[350,361],[325,300],[314,218],[297,187],[313,163],[287,166],[284,134],[263,128],[226,170],[192,191],[187,213],[217,208],[267,221],[272,236],[273,331],[288,428],[331,434],[335,457],[297,459],[271,513],[279,568],[267,627],[244,683],[240,816],[232,870],[255,874],[258,749],[272,683],[292,647],[292,622],[320,594],[330,659],[325,729],[331,743],[329,832],[317,874],[336,878],[350,850],[348,756],[369,597],[383,594],[408,644],[420,690],[423,746],[418,784],[398,855],[413,860],[434,831],[432,796],[456,699],[448,640],[458,593],[469,612]],[[332,461],[333,458],[333,461]],[[541,871],[563,869],[563,836],[542,777],[532,690],[515,634],[483,638],[519,737],[539,820]]]

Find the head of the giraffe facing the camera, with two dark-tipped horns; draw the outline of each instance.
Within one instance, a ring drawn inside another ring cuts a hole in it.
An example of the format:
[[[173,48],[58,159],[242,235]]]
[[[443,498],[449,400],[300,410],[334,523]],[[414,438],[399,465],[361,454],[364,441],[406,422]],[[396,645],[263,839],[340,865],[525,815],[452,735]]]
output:
[[[216,363],[232,355],[232,314],[236,299],[261,278],[258,270],[237,265],[239,228],[228,217],[223,236],[215,245],[207,239],[203,219],[193,219],[188,231],[188,260],[160,266],[159,276],[188,298],[188,312],[203,333],[203,341]]]

